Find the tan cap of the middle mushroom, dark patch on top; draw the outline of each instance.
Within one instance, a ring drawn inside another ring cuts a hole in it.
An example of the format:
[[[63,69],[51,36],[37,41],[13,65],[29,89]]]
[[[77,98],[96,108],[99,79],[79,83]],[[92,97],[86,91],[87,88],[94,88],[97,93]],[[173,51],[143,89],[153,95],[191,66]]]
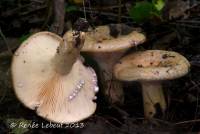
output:
[[[65,33],[64,37],[72,31]],[[133,31],[131,27],[122,24],[98,26],[86,33],[83,52],[114,52],[126,50],[145,41],[142,33]]]

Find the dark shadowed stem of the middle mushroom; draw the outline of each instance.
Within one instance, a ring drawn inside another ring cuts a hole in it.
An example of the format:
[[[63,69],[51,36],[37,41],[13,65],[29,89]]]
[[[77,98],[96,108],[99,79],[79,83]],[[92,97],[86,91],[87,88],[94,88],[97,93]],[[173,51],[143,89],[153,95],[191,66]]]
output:
[[[100,67],[100,81],[102,92],[111,104],[123,104],[124,92],[122,84],[113,76],[113,66],[124,54],[125,51],[119,52],[102,52],[95,53],[93,58]]]

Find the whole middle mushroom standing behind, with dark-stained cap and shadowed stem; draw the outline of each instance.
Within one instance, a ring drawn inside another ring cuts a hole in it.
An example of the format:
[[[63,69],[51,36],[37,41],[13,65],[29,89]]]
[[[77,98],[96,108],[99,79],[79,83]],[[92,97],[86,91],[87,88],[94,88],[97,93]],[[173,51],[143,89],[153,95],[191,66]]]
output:
[[[65,33],[68,36],[71,31]],[[100,82],[103,93],[110,103],[123,103],[121,83],[113,78],[113,66],[131,47],[145,41],[142,33],[124,24],[98,26],[86,32],[86,39],[81,52],[89,54],[100,67]]]

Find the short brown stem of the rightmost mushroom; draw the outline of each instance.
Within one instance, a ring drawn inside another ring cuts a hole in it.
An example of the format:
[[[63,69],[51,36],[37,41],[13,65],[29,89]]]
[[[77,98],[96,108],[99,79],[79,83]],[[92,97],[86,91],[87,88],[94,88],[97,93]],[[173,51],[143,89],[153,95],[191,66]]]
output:
[[[152,118],[155,114],[158,114],[158,110],[163,113],[166,110],[166,102],[161,83],[142,81],[141,84],[145,117]]]

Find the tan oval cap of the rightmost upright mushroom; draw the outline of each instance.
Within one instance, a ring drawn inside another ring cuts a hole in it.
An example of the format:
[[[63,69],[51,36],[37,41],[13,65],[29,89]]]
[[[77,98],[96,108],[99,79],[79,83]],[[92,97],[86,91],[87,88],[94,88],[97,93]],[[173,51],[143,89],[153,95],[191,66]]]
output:
[[[176,52],[147,50],[122,58],[114,74],[126,81],[170,80],[187,74],[189,68],[187,59]]]

